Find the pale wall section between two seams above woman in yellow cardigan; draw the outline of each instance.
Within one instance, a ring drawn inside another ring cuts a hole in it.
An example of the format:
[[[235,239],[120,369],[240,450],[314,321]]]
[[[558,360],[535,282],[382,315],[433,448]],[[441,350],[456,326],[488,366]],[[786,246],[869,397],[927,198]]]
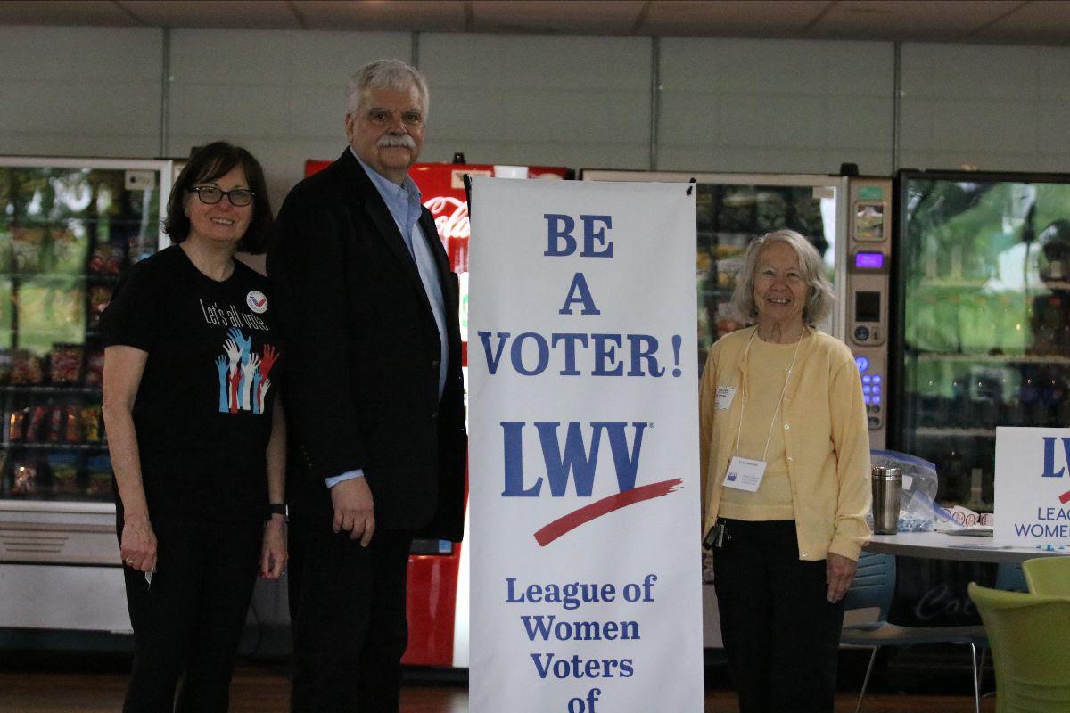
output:
[[[658,168],[892,170],[890,43],[661,40]]]

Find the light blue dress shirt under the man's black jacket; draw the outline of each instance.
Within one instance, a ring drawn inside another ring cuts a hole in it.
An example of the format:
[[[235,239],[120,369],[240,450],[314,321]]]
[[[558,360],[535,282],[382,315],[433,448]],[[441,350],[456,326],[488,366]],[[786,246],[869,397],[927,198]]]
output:
[[[431,313],[434,315],[434,325],[439,328],[439,399],[446,386],[446,367],[449,361],[449,346],[446,341],[446,303],[442,296],[442,284],[439,280],[439,268],[434,262],[434,253],[431,246],[427,244],[427,236],[419,227],[419,214],[424,204],[421,201],[419,188],[408,175],[399,186],[389,179],[379,174],[373,168],[361,160],[353,148],[350,153],[361,164],[372,185],[394,218],[394,224],[404,238],[409,252],[416,262],[416,270],[419,273],[419,280],[424,283],[424,292],[427,300],[431,304]],[[438,235],[434,239],[438,239]],[[324,478],[327,487],[334,487],[343,480],[363,478],[364,469],[349,470],[340,476]]]

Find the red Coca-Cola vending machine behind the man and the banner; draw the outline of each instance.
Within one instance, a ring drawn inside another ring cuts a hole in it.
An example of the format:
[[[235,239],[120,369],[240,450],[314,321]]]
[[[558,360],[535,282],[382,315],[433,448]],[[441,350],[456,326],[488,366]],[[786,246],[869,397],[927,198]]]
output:
[[[305,161],[305,175],[331,161]],[[464,174],[499,179],[571,179],[572,171],[547,166],[465,164],[456,154],[452,164],[415,164],[409,174],[419,187],[424,205],[434,217],[460,284],[462,373],[468,408],[468,247],[469,212]],[[468,513],[464,539],[469,537]],[[409,555],[409,648],[401,663],[412,666],[468,668],[469,665],[469,557],[468,548],[446,540],[416,540]]]

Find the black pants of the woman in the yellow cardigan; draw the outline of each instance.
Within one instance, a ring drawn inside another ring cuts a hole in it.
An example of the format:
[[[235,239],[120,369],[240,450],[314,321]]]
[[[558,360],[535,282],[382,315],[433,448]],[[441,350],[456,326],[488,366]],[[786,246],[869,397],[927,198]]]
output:
[[[794,521],[720,522],[714,585],[740,713],[831,713],[843,602],[825,599],[825,560],[798,558]]]

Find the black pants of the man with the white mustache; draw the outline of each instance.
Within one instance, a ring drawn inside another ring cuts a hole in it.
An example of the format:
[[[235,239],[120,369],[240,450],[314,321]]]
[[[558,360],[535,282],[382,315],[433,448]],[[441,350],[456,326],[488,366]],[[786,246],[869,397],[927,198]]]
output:
[[[293,713],[398,712],[412,537],[376,530],[362,547],[330,520],[291,523]]]

